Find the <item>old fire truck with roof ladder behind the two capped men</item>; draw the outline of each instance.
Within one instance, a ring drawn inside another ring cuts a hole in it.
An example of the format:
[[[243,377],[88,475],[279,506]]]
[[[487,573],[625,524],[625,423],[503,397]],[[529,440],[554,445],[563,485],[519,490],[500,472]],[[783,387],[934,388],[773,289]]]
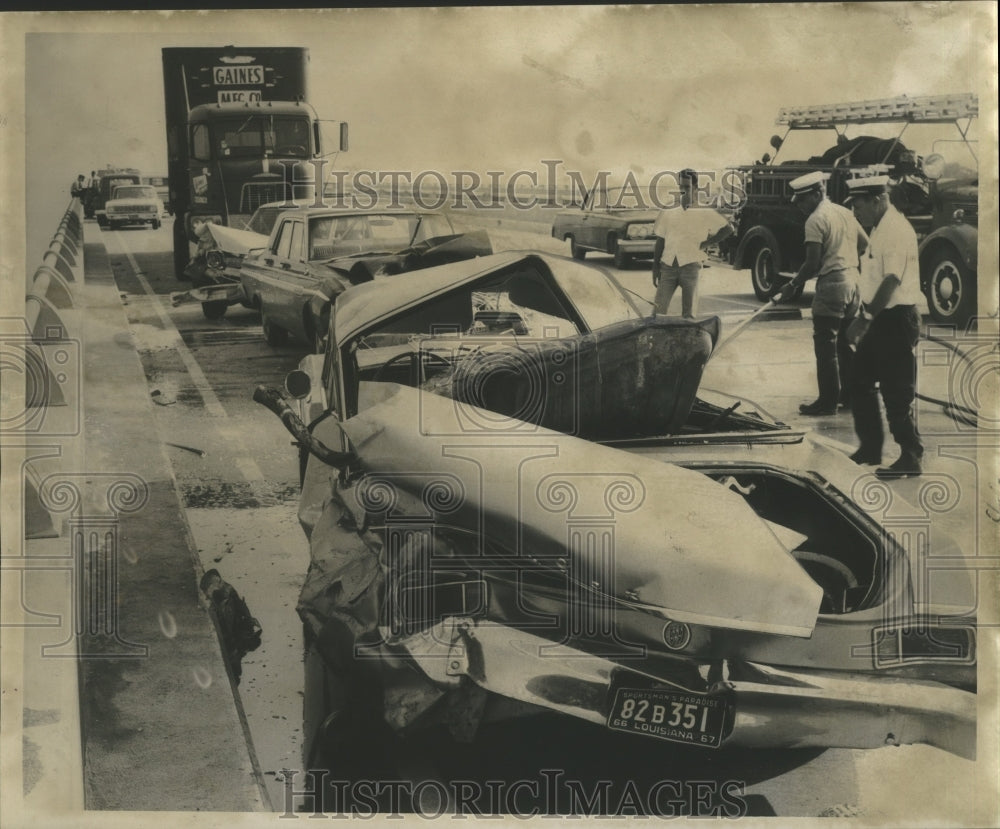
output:
[[[978,115],[972,94],[782,109],[776,123],[785,133],[771,139],[774,157],[765,154],[754,164],[730,168],[740,176],[743,199],[736,234],[727,240],[729,262],[749,268],[757,298],[770,298],[805,259],[805,217],[791,202],[789,182],[821,170],[830,176],[828,197],[842,203],[852,170],[882,164],[892,180],[892,202],[920,240],[920,287],[930,315],[964,328],[976,314],[979,164],[969,132]],[[899,128],[893,137],[848,136],[848,128],[870,124]],[[910,149],[909,135],[903,143],[915,125],[930,125],[922,130],[931,137],[926,155]],[[778,161],[793,133],[817,130],[834,131],[833,146],[805,159]]]

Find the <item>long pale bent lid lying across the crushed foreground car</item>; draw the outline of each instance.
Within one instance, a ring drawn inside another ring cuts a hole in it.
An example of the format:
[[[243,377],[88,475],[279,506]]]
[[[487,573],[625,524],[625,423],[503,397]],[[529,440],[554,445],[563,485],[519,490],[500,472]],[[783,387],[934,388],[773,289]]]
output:
[[[378,503],[412,517],[410,505],[425,526],[447,523],[517,555],[568,561],[588,590],[663,618],[811,634],[819,586],[739,494],[669,463],[377,385],[383,399],[342,424],[366,473],[353,493],[341,492],[367,512],[357,518],[372,519]],[[332,575],[313,570],[315,579]],[[315,583],[303,591],[320,605],[328,595]]]

